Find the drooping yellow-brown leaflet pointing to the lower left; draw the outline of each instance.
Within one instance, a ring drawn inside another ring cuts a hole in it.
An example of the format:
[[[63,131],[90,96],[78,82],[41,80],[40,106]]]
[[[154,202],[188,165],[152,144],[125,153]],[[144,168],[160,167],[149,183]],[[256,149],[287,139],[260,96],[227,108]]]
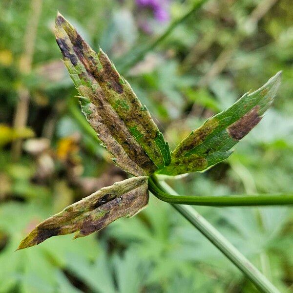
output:
[[[121,217],[131,217],[148,203],[147,177],[133,177],[105,187],[40,223],[18,249],[37,245],[47,238],[78,232],[83,237],[103,229]]]

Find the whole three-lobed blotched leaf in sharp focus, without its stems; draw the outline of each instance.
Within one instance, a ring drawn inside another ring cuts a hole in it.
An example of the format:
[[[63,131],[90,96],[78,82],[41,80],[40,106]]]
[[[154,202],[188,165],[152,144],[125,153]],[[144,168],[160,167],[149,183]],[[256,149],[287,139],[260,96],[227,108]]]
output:
[[[82,237],[136,214],[148,203],[147,176],[155,171],[168,175],[201,171],[226,159],[230,148],[261,120],[280,83],[278,73],[257,91],[245,94],[192,131],[171,156],[148,110],[105,53],[95,53],[60,14],[55,33],[87,121],[116,164],[138,177],[102,188],[63,209],[32,230],[18,249],[56,235],[77,232],[74,238]]]

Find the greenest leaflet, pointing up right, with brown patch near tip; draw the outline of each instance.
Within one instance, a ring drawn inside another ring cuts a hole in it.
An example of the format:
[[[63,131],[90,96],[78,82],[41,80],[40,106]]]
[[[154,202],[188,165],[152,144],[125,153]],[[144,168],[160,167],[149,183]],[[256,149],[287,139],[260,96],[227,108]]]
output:
[[[193,130],[172,152],[171,163],[160,174],[179,175],[205,170],[225,159],[231,147],[256,126],[270,107],[281,81],[281,72],[258,90],[244,94],[227,110]]]

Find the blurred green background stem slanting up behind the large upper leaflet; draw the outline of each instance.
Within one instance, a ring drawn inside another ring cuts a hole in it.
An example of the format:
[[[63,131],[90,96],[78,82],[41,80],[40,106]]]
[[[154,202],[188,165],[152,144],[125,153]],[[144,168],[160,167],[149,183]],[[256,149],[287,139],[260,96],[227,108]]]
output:
[[[184,14],[182,17],[178,18],[177,20],[174,20],[167,27],[166,31],[162,35],[160,35],[158,38],[156,38],[153,42],[150,42],[148,45],[146,45],[146,47],[140,49],[139,51],[136,50],[136,53],[134,53],[134,54],[133,54],[133,52],[135,52],[135,49],[129,50],[129,52],[131,52],[131,55],[123,57],[123,60],[129,60],[129,61],[127,61],[124,64],[122,63],[120,66],[119,66],[119,61],[116,62],[116,66],[117,66],[117,68],[120,69],[120,72],[125,73],[127,71],[127,69],[131,68],[133,65],[135,65],[136,63],[141,61],[146,56],[147,52],[153,50],[158,44],[163,42],[178,24],[180,24],[180,23],[184,22],[186,19],[188,19],[188,17],[191,16],[195,11],[197,11],[206,1],[207,0],[196,1],[192,5],[191,9],[186,14]]]

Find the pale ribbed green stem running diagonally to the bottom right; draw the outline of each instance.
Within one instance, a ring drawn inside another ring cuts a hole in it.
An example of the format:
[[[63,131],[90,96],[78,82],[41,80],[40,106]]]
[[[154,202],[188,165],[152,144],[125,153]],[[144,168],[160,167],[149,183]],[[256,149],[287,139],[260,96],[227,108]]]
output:
[[[152,178],[156,180],[155,176],[152,176]],[[158,188],[164,190],[165,193],[176,194],[176,192],[169,187],[167,183],[156,180],[156,184],[158,185]],[[226,255],[227,258],[240,271],[242,271],[261,292],[279,293],[272,283],[195,209],[187,205],[172,204],[172,206],[177,209],[205,237],[207,237],[216,248]]]

